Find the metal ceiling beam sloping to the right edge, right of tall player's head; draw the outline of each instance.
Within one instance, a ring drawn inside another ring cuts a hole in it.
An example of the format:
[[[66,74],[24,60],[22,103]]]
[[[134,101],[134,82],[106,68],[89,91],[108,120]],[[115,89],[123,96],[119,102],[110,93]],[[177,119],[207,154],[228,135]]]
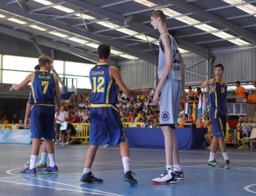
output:
[[[188,4],[184,2],[183,0],[170,0],[172,4],[175,6],[185,9],[188,12],[192,12],[197,16],[203,16],[206,20],[210,20],[220,26],[223,26],[225,28],[228,28],[232,32],[235,32],[239,36],[242,36],[244,39],[248,40],[249,42],[252,42],[253,44],[256,44],[256,35],[255,32],[240,28],[240,26],[234,22],[231,21],[225,21],[224,18],[218,16],[217,14],[206,12],[203,8],[200,8],[194,4]]]

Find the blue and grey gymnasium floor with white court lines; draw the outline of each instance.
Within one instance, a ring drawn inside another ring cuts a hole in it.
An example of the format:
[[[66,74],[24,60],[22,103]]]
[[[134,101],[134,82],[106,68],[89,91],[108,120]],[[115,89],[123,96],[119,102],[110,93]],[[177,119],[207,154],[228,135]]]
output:
[[[98,149],[92,172],[102,184],[83,184],[80,177],[88,145],[56,146],[60,173],[21,177],[30,158],[31,145],[0,144],[0,196],[252,196],[256,194],[256,152],[228,148],[232,168],[208,168],[209,150],[180,150],[185,179],[176,184],[156,185],[151,180],[164,172],[163,149],[130,148],[131,170],[138,185],[122,181],[123,166],[118,146]],[[39,159],[41,155],[39,155]],[[224,163],[218,151],[216,160]],[[47,159],[49,162],[49,159]]]

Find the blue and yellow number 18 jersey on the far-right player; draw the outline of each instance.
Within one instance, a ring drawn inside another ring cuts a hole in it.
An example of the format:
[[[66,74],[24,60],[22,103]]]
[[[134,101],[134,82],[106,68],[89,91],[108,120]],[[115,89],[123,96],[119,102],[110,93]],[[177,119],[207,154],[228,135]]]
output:
[[[214,80],[216,88],[215,91],[212,92],[209,86],[207,110],[210,116],[217,118],[226,115],[227,112],[227,83],[224,81],[221,83],[217,78]]]

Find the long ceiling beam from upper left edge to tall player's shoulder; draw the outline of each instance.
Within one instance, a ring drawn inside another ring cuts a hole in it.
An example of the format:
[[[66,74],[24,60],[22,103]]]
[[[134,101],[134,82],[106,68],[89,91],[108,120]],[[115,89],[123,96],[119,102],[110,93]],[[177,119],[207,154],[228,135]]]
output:
[[[10,7],[10,6],[6,6],[6,5],[3,5],[3,4],[0,4],[0,9],[4,10],[6,12],[10,12],[10,13],[16,14],[18,16],[24,17],[24,18],[34,20],[35,22],[40,22],[42,24],[46,24],[46,25],[51,26],[53,28],[58,28],[58,29],[66,31],[66,32],[70,32],[70,33],[73,33],[73,34],[76,34],[76,35],[79,35],[79,36],[82,36],[82,37],[85,37],[85,38],[90,38],[90,39],[98,41],[98,42],[109,44],[110,46],[114,46],[114,47],[119,48],[119,49],[121,49],[125,52],[130,53],[132,56],[136,56],[138,58],[141,58],[141,59],[146,60],[146,61],[148,61],[150,63],[153,63],[153,64],[156,63],[156,60],[155,60],[154,56],[152,56],[150,54],[147,54],[146,52],[142,52],[140,50],[137,50],[135,48],[130,48],[128,46],[124,46],[123,44],[120,44],[118,42],[113,42],[112,40],[106,40],[106,39],[101,38],[99,36],[95,36],[95,35],[92,35],[88,32],[82,31],[80,29],[72,28],[70,26],[66,26],[64,24],[61,24],[61,23],[58,23],[58,22],[55,22],[55,21],[52,21],[52,20],[48,20],[46,18],[42,18],[40,16],[36,16],[36,15],[32,16],[30,14],[27,14],[23,10],[19,10],[19,9],[16,9],[16,8],[13,8],[13,7]]]

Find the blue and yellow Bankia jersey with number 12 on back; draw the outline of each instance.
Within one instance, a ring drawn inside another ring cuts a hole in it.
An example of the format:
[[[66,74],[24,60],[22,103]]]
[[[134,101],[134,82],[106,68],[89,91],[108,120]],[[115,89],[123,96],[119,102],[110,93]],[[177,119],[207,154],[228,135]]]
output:
[[[98,63],[90,70],[93,104],[117,104],[118,85],[111,80],[108,64]]]

